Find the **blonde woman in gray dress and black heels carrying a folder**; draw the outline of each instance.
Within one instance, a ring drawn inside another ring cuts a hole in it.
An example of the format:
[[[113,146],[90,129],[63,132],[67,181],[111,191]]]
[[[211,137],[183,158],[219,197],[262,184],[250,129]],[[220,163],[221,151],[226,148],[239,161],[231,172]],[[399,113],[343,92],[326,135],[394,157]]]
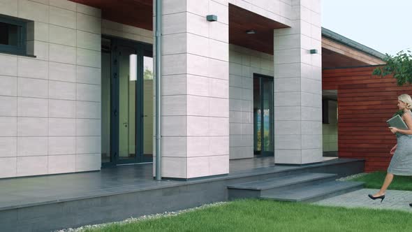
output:
[[[399,110],[403,110],[404,114],[402,119],[404,120],[407,130],[397,129],[396,127],[389,127],[392,133],[396,133],[397,145],[390,150],[392,159],[388,167],[388,173],[386,174],[385,181],[382,184],[381,189],[376,194],[369,194],[369,198],[385,199],[385,191],[388,189],[390,182],[393,180],[394,175],[412,175],[412,99],[408,94],[402,94],[398,97]],[[399,132],[399,133],[397,133]],[[412,206],[412,203],[409,204]]]

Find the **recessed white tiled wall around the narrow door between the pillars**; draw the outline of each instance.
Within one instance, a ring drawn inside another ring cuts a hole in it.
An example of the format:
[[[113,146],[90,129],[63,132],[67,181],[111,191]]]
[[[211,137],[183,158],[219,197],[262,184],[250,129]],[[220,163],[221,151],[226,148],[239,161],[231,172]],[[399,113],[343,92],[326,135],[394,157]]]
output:
[[[273,56],[230,45],[229,61],[230,159],[251,158],[253,73],[269,73],[273,76]]]

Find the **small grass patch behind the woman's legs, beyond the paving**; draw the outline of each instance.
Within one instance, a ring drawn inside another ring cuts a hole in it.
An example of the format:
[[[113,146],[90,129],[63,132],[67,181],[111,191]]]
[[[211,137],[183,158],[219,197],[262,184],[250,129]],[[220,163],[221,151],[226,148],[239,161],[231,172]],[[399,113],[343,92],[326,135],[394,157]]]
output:
[[[355,177],[351,179],[351,181],[365,182],[365,188],[367,189],[380,189],[383,180],[385,180],[385,175],[386,172],[378,171],[374,173],[367,173],[367,175],[362,175],[360,177]],[[412,191],[412,177],[395,175],[388,189]]]

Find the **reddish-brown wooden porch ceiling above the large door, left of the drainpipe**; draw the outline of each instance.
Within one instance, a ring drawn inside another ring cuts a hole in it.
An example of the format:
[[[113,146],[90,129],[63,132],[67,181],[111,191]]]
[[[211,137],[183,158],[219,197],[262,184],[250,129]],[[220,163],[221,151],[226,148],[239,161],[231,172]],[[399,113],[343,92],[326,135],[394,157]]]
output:
[[[101,9],[105,20],[152,30],[153,0],[70,0]]]

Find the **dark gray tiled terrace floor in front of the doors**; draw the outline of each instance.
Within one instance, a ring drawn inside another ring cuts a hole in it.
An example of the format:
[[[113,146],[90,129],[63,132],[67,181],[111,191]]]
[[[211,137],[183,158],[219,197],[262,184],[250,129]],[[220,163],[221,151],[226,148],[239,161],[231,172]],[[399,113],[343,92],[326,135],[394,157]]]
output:
[[[267,169],[283,171],[293,168],[296,167],[275,167],[273,157],[231,160],[228,176],[248,175]],[[152,164],[102,168],[101,171],[87,173],[2,179],[0,180],[0,210],[78,200],[88,196],[108,196],[135,190],[172,187],[196,181],[198,180],[155,181],[152,176]]]

